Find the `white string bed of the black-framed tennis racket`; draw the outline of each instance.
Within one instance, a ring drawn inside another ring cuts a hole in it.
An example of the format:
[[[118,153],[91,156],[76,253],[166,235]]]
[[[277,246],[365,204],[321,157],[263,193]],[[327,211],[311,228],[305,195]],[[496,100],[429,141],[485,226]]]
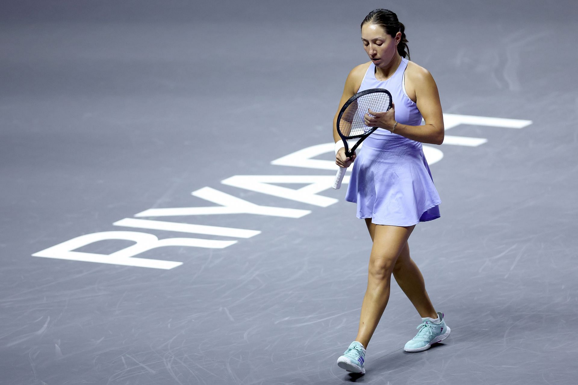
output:
[[[338,129],[346,137],[358,137],[367,133],[371,127],[364,123],[364,115],[373,112],[387,111],[390,108],[390,95],[386,92],[373,92],[353,100],[341,115]]]

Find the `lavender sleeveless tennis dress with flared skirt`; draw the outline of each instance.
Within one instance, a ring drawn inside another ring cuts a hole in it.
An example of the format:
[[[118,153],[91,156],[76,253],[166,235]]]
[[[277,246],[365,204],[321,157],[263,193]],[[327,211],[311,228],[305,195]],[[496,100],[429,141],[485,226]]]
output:
[[[359,91],[385,88],[395,104],[395,120],[421,125],[421,113],[405,92],[403,72],[407,59],[385,81],[375,79],[369,64]],[[358,92],[359,92],[358,91]],[[412,226],[440,217],[442,203],[421,143],[378,128],[365,141],[353,162],[345,196],[357,203],[357,218],[372,218],[376,225]]]

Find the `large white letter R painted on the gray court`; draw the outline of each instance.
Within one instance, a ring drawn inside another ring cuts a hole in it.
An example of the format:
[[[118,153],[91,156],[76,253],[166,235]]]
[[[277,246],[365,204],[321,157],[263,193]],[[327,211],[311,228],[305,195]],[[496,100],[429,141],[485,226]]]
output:
[[[110,254],[86,253],[73,251],[91,243],[103,240],[127,240],[136,244]],[[67,259],[85,262],[109,263],[122,266],[149,267],[169,270],[180,266],[182,262],[157,259],[135,258],[134,256],[161,246],[195,246],[203,248],[222,249],[236,241],[214,241],[198,238],[166,238],[159,240],[156,236],[139,231],[102,231],[101,233],[85,234],[69,241],[49,247],[32,254],[34,257]]]

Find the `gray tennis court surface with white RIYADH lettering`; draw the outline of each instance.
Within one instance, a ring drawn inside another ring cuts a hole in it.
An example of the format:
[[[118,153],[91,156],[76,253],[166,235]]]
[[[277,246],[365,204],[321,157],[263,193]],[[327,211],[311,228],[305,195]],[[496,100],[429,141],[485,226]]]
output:
[[[375,8],[406,25],[451,126],[427,154],[442,218],[409,241],[451,336],[403,352],[421,319],[393,281],[353,377],[336,359],[370,238],[344,188],[319,186]],[[3,1],[0,383],[575,384],[576,14],[569,0]]]

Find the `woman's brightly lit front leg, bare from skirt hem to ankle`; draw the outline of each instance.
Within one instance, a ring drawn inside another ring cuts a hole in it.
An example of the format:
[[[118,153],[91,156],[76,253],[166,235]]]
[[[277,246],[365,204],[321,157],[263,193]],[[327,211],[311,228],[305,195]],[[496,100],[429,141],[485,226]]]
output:
[[[390,298],[391,274],[399,253],[415,227],[374,225],[370,221],[366,220],[366,223],[373,247],[369,256],[368,283],[361,305],[360,326],[355,338],[366,349]]]

